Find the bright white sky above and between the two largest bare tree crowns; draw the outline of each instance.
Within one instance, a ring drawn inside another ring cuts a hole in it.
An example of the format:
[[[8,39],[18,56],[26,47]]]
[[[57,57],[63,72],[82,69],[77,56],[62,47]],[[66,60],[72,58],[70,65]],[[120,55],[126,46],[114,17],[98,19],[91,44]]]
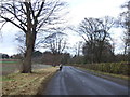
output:
[[[72,5],[70,24],[74,25],[77,25],[84,17],[103,17],[106,15],[117,17],[125,0],[118,0],[118,2],[113,0],[79,0],[79,2],[78,4],[78,0],[68,1]]]

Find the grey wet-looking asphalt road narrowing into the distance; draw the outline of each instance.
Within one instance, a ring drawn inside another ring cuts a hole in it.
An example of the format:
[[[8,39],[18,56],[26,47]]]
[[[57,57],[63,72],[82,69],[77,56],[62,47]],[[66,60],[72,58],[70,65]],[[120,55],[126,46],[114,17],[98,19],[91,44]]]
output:
[[[49,82],[46,95],[128,95],[128,87],[64,66]]]

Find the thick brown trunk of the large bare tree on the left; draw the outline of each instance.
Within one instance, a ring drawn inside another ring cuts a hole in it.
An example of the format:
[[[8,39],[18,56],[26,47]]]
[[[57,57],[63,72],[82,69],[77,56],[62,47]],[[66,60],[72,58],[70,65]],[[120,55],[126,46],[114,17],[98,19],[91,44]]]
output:
[[[26,52],[23,63],[23,70],[22,73],[31,73],[31,56],[34,52],[35,46],[35,40],[36,40],[36,30],[34,29],[36,26],[31,23],[31,16],[30,16],[30,8],[29,3],[25,3],[26,10],[27,10],[27,32],[26,33]]]

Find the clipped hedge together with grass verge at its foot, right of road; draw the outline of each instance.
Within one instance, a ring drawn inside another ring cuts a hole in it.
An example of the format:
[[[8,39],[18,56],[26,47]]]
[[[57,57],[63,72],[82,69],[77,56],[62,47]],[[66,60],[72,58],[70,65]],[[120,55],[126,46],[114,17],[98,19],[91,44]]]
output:
[[[107,77],[130,80],[130,68],[129,68],[130,64],[128,61],[84,64],[84,65],[74,65],[74,66],[83,68],[91,72],[95,72],[95,74],[104,74]]]

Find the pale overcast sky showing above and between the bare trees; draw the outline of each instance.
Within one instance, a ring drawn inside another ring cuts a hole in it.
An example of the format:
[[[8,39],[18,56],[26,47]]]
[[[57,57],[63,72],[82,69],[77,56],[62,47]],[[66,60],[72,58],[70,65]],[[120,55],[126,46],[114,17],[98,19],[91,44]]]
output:
[[[120,8],[127,0],[65,0],[68,3],[69,14],[67,19],[69,25],[77,26],[84,17],[104,17],[113,16],[117,17],[122,9]],[[15,41],[15,34],[18,29],[11,24],[6,24],[2,29],[2,37],[0,34],[0,53],[9,55],[17,54],[17,43]],[[113,29],[113,37],[115,41],[118,41],[116,45],[116,53],[120,53],[122,50],[122,30]],[[74,32],[69,32],[68,43],[74,45],[78,41],[82,40]],[[43,50],[41,50],[43,51]]]

